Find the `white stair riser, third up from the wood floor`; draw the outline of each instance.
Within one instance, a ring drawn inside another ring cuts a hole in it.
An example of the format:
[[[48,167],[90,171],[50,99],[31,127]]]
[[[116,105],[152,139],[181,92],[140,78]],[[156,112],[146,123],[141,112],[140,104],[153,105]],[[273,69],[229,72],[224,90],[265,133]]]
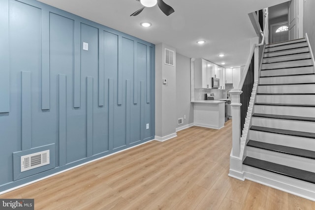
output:
[[[249,132],[249,138],[253,141],[282,145],[286,147],[294,147],[303,150],[315,150],[315,139],[257,130],[250,130]]]

